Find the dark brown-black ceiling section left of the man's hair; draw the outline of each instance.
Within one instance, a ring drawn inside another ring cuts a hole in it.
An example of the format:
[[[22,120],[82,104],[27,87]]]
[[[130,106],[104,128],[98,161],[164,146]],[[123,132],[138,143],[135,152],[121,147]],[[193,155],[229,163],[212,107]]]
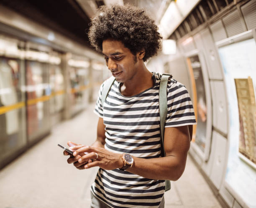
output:
[[[95,3],[104,5],[103,0]],[[76,0],[0,0],[0,4],[90,47],[86,33],[90,18]]]

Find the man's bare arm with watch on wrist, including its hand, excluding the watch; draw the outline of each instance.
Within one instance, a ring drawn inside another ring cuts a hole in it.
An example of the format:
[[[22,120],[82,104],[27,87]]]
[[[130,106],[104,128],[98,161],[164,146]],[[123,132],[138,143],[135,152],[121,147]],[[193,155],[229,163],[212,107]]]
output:
[[[190,136],[188,126],[165,128],[164,149],[166,157],[152,159],[133,157],[134,164],[126,171],[141,175],[144,178],[178,180],[184,172],[189,147]],[[113,170],[123,167],[121,154],[110,152],[100,147],[80,146],[74,152],[74,155],[79,155],[81,152],[90,152],[90,155],[83,155],[81,157],[81,160],[79,160],[81,163],[84,160],[88,160],[88,158],[96,158],[98,155],[98,160],[85,165],[84,168],[99,166],[106,170]]]

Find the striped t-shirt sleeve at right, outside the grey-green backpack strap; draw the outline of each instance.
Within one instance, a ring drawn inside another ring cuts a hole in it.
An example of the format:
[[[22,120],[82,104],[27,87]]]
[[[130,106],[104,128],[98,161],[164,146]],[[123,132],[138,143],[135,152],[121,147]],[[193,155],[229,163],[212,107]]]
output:
[[[186,87],[171,79],[167,86],[167,117],[165,127],[196,124],[195,112]]]

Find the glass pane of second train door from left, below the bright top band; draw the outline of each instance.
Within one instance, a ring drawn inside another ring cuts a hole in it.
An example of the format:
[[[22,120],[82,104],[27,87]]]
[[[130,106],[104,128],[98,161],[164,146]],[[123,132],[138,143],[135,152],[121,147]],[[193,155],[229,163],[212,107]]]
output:
[[[28,140],[45,134],[49,126],[51,88],[47,63],[26,61]]]

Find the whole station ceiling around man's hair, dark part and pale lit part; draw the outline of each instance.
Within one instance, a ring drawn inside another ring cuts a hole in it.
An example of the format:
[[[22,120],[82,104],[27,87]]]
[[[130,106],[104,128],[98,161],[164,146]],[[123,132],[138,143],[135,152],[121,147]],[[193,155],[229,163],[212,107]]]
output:
[[[3,5],[29,19],[61,33],[84,46],[90,46],[87,31],[90,18],[101,5],[110,3],[132,3],[148,10],[157,20],[162,0],[0,0]],[[170,0],[164,0],[165,3]],[[142,3],[144,2],[144,3]],[[146,3],[146,4],[145,4]]]

